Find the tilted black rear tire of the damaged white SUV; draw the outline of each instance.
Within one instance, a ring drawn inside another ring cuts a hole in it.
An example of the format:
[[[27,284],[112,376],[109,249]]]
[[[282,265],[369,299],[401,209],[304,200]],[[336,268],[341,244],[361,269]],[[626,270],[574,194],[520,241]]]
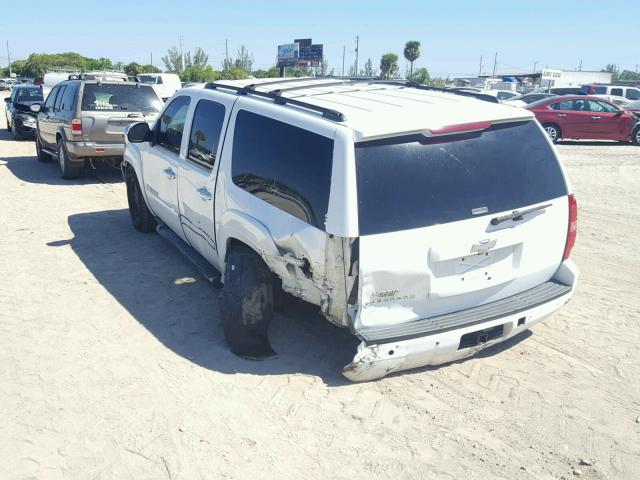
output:
[[[268,337],[273,287],[273,274],[254,251],[231,248],[220,313],[225,339],[234,354],[252,360],[275,355]]]

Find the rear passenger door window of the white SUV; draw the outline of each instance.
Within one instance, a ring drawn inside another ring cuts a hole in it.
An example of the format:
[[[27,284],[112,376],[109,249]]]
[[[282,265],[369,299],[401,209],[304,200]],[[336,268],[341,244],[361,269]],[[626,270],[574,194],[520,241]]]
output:
[[[189,137],[189,160],[209,168],[216,162],[224,113],[224,105],[209,100],[198,102]]]

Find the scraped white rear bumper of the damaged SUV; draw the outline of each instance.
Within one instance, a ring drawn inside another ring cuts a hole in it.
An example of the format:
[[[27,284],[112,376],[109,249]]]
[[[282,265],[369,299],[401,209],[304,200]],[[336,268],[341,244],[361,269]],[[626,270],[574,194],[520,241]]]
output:
[[[388,331],[392,338],[387,339],[378,338],[379,335],[372,335],[371,332],[362,332],[359,336],[363,342],[358,346],[353,361],[342,369],[342,373],[351,381],[363,382],[382,378],[393,372],[440,365],[474,355],[531,328],[566,304],[573,295],[577,277],[576,267],[572,262],[566,261],[562,263],[554,279],[547,282],[557,287],[546,286],[546,299],[538,291],[538,297],[521,295],[517,299],[505,299],[502,303],[511,302],[511,310],[501,310],[496,302],[494,305],[484,306],[485,308],[476,307],[455,315],[412,322],[404,325],[404,331],[407,332],[405,336],[399,334],[401,326],[391,327]],[[537,298],[539,301],[527,304],[527,298]],[[507,311],[511,313],[506,313]],[[483,317],[491,313],[494,314],[493,317]],[[468,321],[466,324],[456,325],[451,319],[455,316],[467,318]],[[437,328],[438,322],[442,328]],[[415,333],[424,332],[429,325],[436,325],[436,328],[426,334]]]

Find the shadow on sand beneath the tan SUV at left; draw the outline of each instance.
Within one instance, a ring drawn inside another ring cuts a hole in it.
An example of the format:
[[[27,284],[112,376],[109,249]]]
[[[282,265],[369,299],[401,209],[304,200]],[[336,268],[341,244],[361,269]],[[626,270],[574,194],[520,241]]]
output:
[[[98,162],[95,169],[83,170],[80,178],[65,180],[60,175],[58,163],[54,160],[48,163],[38,162],[34,156],[0,157],[0,166],[7,168],[13,175],[23,182],[43,185],[90,185],[95,183],[119,183],[123,181],[119,168]]]

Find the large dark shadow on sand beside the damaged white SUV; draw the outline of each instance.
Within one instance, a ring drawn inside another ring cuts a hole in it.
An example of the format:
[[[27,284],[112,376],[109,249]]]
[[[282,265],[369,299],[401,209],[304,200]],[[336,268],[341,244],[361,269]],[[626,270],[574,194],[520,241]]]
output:
[[[211,287],[171,244],[134,230],[124,209],[72,215],[68,222],[73,238],[48,245],[70,245],[131,316],[178,355],[226,374],[304,373],[331,386],[349,383],[340,372],[358,341],[322,318],[317,307],[298,305],[287,315],[276,315],[270,328],[276,357],[236,357],[222,335],[222,291]]]

